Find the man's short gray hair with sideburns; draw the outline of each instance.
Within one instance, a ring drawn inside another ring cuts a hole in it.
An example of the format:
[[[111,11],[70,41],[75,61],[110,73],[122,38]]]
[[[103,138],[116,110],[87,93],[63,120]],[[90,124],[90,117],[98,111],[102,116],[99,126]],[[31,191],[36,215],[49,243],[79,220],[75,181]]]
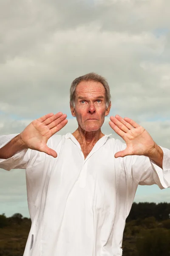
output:
[[[103,76],[99,76],[98,74],[92,72],[88,73],[84,76],[79,76],[71,83],[70,87],[70,103],[73,107],[75,107],[75,90],[77,85],[82,81],[95,81],[101,83],[105,87],[106,92],[106,108],[108,108],[111,102],[111,93],[107,80]]]

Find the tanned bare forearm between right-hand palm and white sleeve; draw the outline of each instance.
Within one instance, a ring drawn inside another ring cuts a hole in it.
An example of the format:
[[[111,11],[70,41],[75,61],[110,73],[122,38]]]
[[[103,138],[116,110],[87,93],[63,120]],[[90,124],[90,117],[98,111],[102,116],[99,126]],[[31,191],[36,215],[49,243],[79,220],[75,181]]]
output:
[[[147,154],[147,157],[150,158],[150,160],[153,160],[157,166],[159,166],[161,169],[163,168],[163,157],[164,157],[164,152],[162,149],[159,147],[159,145],[156,145],[154,150]]]

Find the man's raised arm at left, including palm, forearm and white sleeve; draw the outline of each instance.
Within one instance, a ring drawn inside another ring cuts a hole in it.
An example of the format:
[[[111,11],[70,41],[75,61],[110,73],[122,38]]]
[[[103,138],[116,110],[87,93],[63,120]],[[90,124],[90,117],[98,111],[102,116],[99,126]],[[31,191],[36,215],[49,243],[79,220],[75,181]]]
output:
[[[44,152],[57,157],[57,152],[49,148],[47,142],[51,136],[67,124],[66,115],[61,112],[47,114],[31,122],[23,132],[0,136],[0,168],[26,169],[31,150]]]

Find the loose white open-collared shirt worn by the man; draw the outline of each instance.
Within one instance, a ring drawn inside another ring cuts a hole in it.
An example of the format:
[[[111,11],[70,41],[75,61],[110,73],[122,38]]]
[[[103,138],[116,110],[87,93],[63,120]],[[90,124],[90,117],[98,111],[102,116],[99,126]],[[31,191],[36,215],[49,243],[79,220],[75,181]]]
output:
[[[17,134],[0,137],[1,147]],[[170,187],[170,150],[163,169],[148,157],[114,154],[126,148],[105,135],[84,159],[75,137],[54,135],[58,157],[25,149],[0,168],[26,169],[31,230],[24,256],[121,256],[125,220],[138,184]]]

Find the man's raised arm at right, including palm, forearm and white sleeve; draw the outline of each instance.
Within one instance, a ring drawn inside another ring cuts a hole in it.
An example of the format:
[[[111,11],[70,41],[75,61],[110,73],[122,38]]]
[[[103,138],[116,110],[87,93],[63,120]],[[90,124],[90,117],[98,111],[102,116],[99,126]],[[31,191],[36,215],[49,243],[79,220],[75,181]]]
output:
[[[109,124],[126,143],[126,148],[115,157],[133,156],[133,173],[139,184],[158,184],[161,189],[170,187],[170,150],[158,146],[150,134],[130,118],[111,116]]]

